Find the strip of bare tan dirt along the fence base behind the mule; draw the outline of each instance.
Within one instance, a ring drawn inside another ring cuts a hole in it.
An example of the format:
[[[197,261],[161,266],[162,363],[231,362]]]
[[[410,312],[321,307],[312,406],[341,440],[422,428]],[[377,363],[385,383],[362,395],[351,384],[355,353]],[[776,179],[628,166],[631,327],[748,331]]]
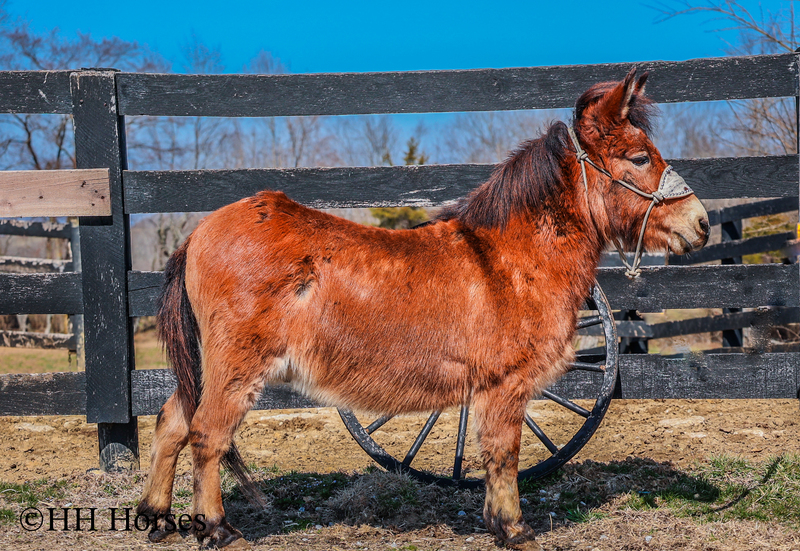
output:
[[[531,402],[529,413],[558,446],[582,421],[550,402]],[[422,416],[396,418],[373,437],[402,459],[424,421]],[[445,411],[412,466],[434,471],[451,468],[457,424],[458,412]],[[139,418],[142,469],[149,466],[154,427],[155,417]],[[2,480],[61,477],[98,467],[96,427],[81,417],[0,417],[0,434]],[[250,412],[237,440],[248,463],[284,471],[349,472],[373,464],[333,408]],[[791,452],[800,453],[797,400],[615,400],[575,460],[637,456],[688,465],[721,453],[761,460]],[[521,465],[536,463],[545,453],[525,429]],[[468,472],[472,469],[475,476],[480,475],[472,437],[464,464]],[[186,451],[178,472],[190,472]]]

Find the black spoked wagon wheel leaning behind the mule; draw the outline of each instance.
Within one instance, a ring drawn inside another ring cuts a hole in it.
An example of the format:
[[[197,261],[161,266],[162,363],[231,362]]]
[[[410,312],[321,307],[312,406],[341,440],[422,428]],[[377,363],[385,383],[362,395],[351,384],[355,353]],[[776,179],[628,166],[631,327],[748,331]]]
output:
[[[526,411],[525,424],[536,437],[537,441],[547,449],[546,453],[550,455],[527,468],[520,464],[519,480],[541,478],[557,470],[572,459],[592,437],[608,410],[617,380],[617,330],[611,313],[611,307],[599,285],[595,284],[592,288],[591,295],[586,300],[585,308],[590,312],[588,316],[584,316],[579,320],[578,329],[602,326],[601,334],[604,343],[600,347],[579,350],[576,355],[576,361],[571,364],[571,370],[564,376],[564,379],[573,379],[572,388],[585,389],[582,392],[584,397],[587,395],[595,395],[594,405],[591,406],[590,409],[587,409],[569,398],[554,392],[553,387],[545,390],[542,393],[542,398],[551,400],[553,403],[566,408],[571,414],[583,418],[583,423],[570,440],[559,447],[553,443],[542,428],[533,420],[529,412]],[[558,386],[558,384],[559,383],[556,383],[554,386]],[[561,394],[564,393],[562,392]],[[472,488],[482,485],[482,478],[464,476],[462,469],[464,464],[465,442],[467,440],[469,406],[462,406],[461,408],[458,432],[456,434],[455,458],[451,473],[449,475],[437,474],[415,469],[411,466],[411,462],[416,457],[425,439],[431,433],[441,413],[441,411],[434,411],[428,417],[428,420],[425,422],[405,457],[402,460],[398,460],[372,437],[372,434],[386,425],[392,417],[380,417],[371,423],[363,424],[352,411],[339,409],[339,415],[342,421],[344,421],[347,430],[350,431],[350,434],[355,438],[356,442],[358,442],[372,459],[385,469],[407,473],[426,483],[456,485],[463,488]],[[523,431],[524,430],[525,427],[523,427]],[[520,463],[522,463],[522,461],[520,461]]]

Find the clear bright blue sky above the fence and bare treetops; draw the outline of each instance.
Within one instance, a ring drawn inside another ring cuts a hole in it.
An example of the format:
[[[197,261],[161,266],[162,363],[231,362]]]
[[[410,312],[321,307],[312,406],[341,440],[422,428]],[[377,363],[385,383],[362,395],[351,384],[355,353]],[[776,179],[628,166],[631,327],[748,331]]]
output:
[[[760,11],[788,2],[743,1]],[[682,60],[725,55],[733,32],[708,15],[658,22],[658,0],[337,2],[97,2],[8,0],[42,32],[146,43],[181,70],[181,45],[196,34],[239,72],[260,50],[291,72],[470,69]],[[677,3],[667,3],[677,6]]]

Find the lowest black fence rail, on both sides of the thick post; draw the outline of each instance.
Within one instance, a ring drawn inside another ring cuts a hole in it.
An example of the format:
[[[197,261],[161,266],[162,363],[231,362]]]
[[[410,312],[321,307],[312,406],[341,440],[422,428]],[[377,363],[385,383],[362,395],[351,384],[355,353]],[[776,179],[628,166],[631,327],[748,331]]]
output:
[[[693,354],[686,357],[623,355],[622,397],[794,398],[800,353]],[[155,415],[175,390],[167,369],[132,374],[133,415]],[[596,397],[591,376],[567,375],[554,390],[570,398]],[[83,415],[84,373],[0,375],[0,415]],[[311,408],[316,404],[287,387],[269,387],[254,409]]]

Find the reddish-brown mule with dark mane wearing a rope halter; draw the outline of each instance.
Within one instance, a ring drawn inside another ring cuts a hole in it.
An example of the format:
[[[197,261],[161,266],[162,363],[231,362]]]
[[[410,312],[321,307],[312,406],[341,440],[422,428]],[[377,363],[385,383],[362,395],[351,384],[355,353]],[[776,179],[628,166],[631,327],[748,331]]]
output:
[[[517,489],[525,406],[565,373],[601,254],[633,250],[640,235],[641,248],[676,254],[708,239],[691,190],[662,193],[678,184],[649,137],[646,78],[632,70],[592,86],[574,137],[552,124],[421,228],[358,225],[269,191],[206,217],[165,270],[158,330],[178,389],[158,415],[139,513],[170,513],[188,444],[203,519],[194,535],[243,544],[225,518],[220,464],[252,484],[234,432],[264,385],[288,381],[377,414],[471,404],[486,527],[535,547]],[[150,538],[173,530],[160,522]]]

